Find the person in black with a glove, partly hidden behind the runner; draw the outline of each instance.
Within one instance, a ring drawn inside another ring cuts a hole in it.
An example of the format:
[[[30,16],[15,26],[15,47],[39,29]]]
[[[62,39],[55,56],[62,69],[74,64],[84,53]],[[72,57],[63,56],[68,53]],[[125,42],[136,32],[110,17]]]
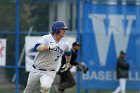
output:
[[[72,55],[71,55],[70,64],[72,66],[76,66],[78,71],[81,71],[85,74],[88,71],[88,68],[86,67],[86,65],[84,65],[84,63],[77,62],[77,56],[80,47],[81,45],[79,42],[77,41],[73,42],[71,48]],[[71,88],[76,84],[76,81],[70,71],[70,68],[63,69],[63,66],[66,63],[65,54],[62,56],[61,63],[62,63],[61,67],[56,76],[56,81],[54,82],[54,88],[56,93],[64,93],[66,89]]]

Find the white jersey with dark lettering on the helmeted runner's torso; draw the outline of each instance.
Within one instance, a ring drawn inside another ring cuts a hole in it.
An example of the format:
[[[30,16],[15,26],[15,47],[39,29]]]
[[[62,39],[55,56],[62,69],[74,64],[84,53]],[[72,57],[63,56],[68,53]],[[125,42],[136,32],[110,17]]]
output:
[[[51,34],[42,36],[36,42],[36,44],[37,43],[47,46],[55,44],[57,46],[57,48],[53,50],[47,50],[37,53],[34,60],[34,65],[41,69],[55,70],[59,64],[59,58],[61,58],[64,52],[70,51],[67,42],[63,38],[61,38],[59,42],[57,42]]]

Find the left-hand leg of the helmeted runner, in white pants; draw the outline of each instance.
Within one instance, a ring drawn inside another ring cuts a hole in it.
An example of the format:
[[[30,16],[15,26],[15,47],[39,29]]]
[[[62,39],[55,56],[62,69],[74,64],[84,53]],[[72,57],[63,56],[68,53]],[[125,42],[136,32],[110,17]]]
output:
[[[31,69],[29,73],[27,85],[23,93],[34,93],[36,86],[39,84],[39,79],[40,79],[40,72],[35,69]]]

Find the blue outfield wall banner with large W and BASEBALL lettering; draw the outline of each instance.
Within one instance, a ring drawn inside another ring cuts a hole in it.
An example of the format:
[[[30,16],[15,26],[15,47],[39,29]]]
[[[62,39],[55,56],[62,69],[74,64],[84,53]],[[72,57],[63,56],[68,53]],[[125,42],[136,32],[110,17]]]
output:
[[[130,64],[127,89],[140,89],[140,6],[83,4],[83,61],[89,72],[82,87],[114,89],[115,68],[121,50]]]

